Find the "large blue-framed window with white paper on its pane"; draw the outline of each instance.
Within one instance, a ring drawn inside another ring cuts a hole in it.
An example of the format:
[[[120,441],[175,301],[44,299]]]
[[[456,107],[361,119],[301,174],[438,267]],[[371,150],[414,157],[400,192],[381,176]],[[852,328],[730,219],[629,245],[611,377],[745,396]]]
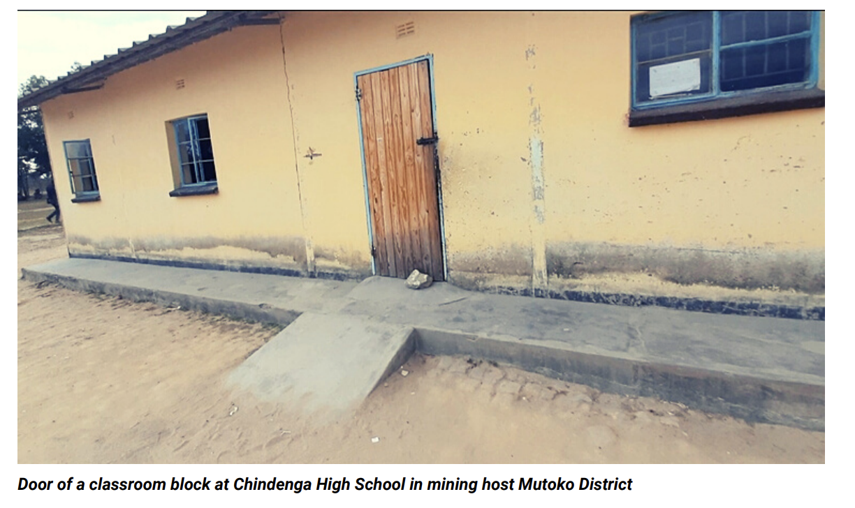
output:
[[[632,19],[634,110],[817,85],[819,13],[691,11]]]

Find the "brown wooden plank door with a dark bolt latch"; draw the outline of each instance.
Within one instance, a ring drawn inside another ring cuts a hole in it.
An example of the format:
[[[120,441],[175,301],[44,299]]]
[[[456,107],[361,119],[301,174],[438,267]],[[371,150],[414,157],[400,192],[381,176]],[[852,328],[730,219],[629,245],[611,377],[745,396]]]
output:
[[[377,274],[444,280],[428,61],[357,76]]]

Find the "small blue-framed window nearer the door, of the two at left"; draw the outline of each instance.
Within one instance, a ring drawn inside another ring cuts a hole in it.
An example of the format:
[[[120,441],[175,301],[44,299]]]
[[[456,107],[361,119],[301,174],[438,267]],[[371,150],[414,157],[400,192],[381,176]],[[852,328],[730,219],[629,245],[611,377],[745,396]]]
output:
[[[217,191],[214,147],[208,115],[173,120],[177,157],[177,189],[170,196],[211,194]]]

